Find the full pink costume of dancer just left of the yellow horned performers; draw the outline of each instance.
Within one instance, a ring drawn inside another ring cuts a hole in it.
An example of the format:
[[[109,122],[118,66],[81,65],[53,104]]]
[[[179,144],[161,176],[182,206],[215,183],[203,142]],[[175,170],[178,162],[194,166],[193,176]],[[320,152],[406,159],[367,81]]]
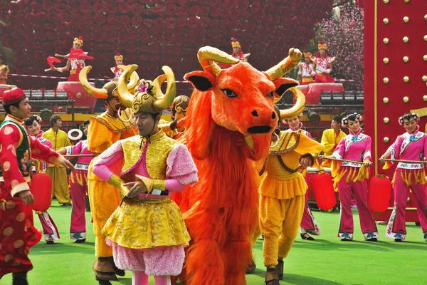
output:
[[[88,150],[88,140],[65,147],[67,155],[93,155]],[[86,238],[85,197],[88,192],[88,169],[93,157],[78,157],[75,170],[70,175],[70,190],[73,198],[71,208],[70,239]]]

